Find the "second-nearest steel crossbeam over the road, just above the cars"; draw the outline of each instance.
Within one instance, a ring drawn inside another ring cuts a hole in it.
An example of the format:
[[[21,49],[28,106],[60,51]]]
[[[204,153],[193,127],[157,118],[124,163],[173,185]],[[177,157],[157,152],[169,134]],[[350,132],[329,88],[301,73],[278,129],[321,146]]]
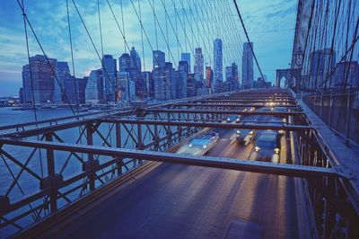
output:
[[[275,123],[221,123],[221,122],[208,122],[207,120],[140,120],[140,119],[114,119],[106,118],[101,119],[106,123],[124,123],[124,124],[146,124],[146,125],[165,125],[165,126],[189,126],[189,127],[201,127],[201,128],[250,128],[250,129],[274,129],[274,130],[289,130],[289,131],[302,131],[313,129],[310,126],[305,125],[287,125],[287,124],[275,124]]]

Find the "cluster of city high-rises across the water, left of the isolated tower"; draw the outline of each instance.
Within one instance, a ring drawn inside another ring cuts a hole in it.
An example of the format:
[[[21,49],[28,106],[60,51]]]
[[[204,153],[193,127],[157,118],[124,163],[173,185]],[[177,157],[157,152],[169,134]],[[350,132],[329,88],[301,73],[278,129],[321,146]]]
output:
[[[216,57],[222,70],[221,53]],[[215,43],[216,44],[216,43]],[[232,63],[230,75],[225,75],[215,82],[211,75],[205,77],[204,61],[201,48],[196,48],[194,56],[194,74],[190,74],[191,61],[189,53],[181,53],[181,60],[174,68],[172,62],[166,62],[166,54],[161,50],[153,50],[152,71],[141,70],[141,58],[132,47],[129,54],[123,53],[118,61],[112,55],[104,54],[100,69],[92,69],[83,78],[71,75],[69,64],[57,58],[36,55],[31,57],[29,65],[22,66],[22,88],[19,90],[21,103],[104,103],[133,101],[136,99],[153,99],[167,101],[186,98],[188,95],[203,95],[236,91],[240,88],[237,64]],[[48,66],[49,61],[52,65]],[[220,62],[219,62],[220,61]],[[207,71],[208,64],[206,64]],[[235,68],[233,68],[235,67]],[[215,68],[218,68],[215,66]],[[212,72],[212,71],[211,71]],[[32,73],[32,74],[31,74]],[[209,77],[209,78],[208,78]],[[31,81],[32,79],[32,81]],[[41,84],[41,87],[39,86]],[[32,90],[34,89],[34,90]]]

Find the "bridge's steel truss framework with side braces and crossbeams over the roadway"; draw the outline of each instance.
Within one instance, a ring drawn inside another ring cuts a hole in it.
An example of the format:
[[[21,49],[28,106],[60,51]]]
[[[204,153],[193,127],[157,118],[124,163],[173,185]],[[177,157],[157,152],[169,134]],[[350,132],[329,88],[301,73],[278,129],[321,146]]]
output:
[[[1,226],[22,230],[150,160],[301,177],[318,231],[343,231],[346,226],[348,235],[352,235],[356,232],[352,222],[358,218],[358,203],[347,185],[352,185],[353,175],[328,155],[317,125],[307,119],[307,111],[302,110],[291,92],[265,90],[260,97],[257,94],[243,91],[0,128],[0,161],[12,179],[0,196]],[[277,102],[273,107],[289,110],[241,109],[261,107],[258,104],[267,102]],[[286,123],[226,122],[230,115],[272,115],[285,118]],[[166,153],[206,128],[290,131],[299,162],[273,164]],[[69,139],[67,135],[77,137]],[[22,156],[14,154],[14,146],[22,150]],[[44,169],[31,167],[35,160]],[[80,170],[69,173],[73,170],[70,164]],[[23,177],[39,190],[25,190]],[[21,191],[23,197],[14,197],[16,191]]]

